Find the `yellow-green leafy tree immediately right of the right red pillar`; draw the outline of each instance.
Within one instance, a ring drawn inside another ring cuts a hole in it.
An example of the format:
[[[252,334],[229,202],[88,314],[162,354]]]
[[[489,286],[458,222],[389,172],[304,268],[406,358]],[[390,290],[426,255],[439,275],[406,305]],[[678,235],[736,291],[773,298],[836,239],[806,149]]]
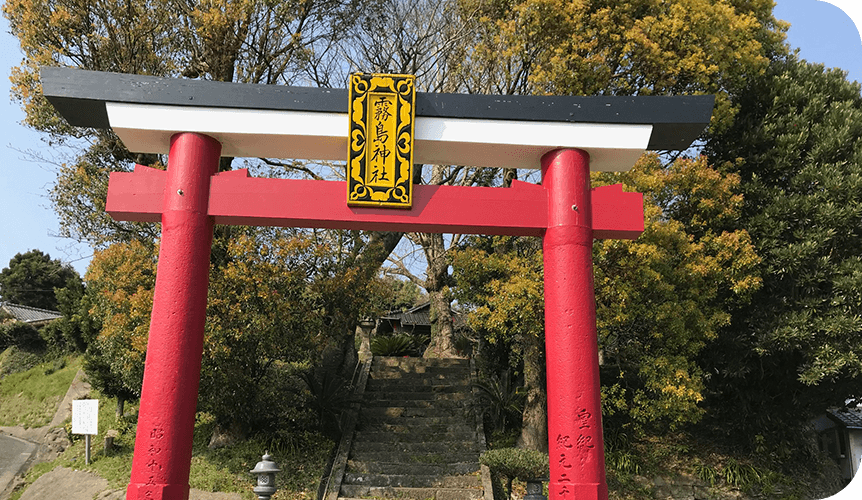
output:
[[[605,411],[622,425],[679,428],[703,415],[707,374],[698,354],[761,285],[760,260],[739,217],[739,177],[706,157],[663,166],[647,155],[601,174],[644,193],[644,233],[594,244]],[[615,395],[611,397],[611,395]]]

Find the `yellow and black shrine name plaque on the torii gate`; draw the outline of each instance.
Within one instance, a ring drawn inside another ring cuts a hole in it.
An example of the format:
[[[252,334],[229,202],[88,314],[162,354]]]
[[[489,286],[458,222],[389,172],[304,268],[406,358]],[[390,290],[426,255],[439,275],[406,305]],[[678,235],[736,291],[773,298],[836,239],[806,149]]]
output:
[[[347,204],[413,204],[413,75],[350,75]]]

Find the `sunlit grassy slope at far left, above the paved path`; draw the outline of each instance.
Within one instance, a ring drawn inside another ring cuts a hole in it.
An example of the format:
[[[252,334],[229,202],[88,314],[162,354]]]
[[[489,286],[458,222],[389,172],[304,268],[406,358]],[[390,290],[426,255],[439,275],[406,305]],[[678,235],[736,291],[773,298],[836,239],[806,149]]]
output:
[[[25,371],[9,373],[7,363],[15,358],[7,349],[2,354],[0,379],[0,425],[41,427],[51,423],[57,405],[81,368],[81,358],[64,356],[39,363]]]

